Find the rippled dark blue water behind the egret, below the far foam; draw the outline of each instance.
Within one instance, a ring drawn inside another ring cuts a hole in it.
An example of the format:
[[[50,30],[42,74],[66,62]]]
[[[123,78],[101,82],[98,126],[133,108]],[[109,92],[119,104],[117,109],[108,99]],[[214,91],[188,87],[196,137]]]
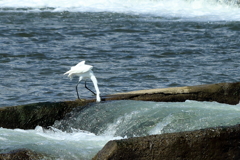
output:
[[[237,82],[239,46],[237,20],[0,12],[0,107],[76,99],[78,78],[63,73],[82,60],[94,66],[102,95]],[[83,83],[79,90],[92,97]]]

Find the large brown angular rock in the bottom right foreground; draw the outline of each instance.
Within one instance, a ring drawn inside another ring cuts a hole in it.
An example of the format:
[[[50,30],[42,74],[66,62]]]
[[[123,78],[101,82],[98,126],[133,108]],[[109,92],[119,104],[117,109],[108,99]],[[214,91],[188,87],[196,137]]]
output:
[[[109,141],[93,160],[240,159],[240,125]]]

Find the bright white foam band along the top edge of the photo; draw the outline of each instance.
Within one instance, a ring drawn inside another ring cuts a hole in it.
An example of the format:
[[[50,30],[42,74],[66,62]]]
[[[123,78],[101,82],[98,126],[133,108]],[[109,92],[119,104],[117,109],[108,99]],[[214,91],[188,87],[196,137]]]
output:
[[[234,0],[2,0],[0,11],[114,12],[177,20],[239,21],[238,5]]]

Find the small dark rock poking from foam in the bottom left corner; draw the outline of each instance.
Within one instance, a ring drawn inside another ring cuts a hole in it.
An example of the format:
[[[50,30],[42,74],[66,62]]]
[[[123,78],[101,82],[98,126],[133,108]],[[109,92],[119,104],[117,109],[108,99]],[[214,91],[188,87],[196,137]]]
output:
[[[0,160],[37,160],[45,158],[45,155],[27,149],[18,149],[9,153],[0,154]]]

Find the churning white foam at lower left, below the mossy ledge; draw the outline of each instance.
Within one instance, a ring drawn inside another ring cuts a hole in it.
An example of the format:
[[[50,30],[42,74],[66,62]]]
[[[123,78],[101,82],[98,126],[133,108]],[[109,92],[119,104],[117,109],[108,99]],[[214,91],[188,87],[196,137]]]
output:
[[[91,159],[109,140],[120,138],[97,136],[82,130],[67,133],[53,127],[37,126],[31,130],[0,128],[0,153],[25,148],[56,159]]]

